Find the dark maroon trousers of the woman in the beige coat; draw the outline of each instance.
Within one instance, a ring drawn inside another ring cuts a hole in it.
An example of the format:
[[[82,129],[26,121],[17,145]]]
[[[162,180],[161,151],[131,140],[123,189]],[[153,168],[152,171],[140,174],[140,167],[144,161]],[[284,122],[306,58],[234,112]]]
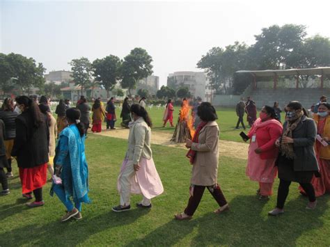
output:
[[[191,196],[189,198],[188,205],[187,205],[186,209],[184,209],[184,214],[187,214],[189,216],[192,216],[194,214],[194,212],[196,211],[196,209],[199,205],[199,202],[201,202],[203,193],[205,191],[205,187],[210,191],[211,195],[218,202],[220,207],[227,204],[226,198],[225,198],[225,196],[223,196],[223,193],[218,184],[214,187],[195,185],[194,186],[194,196]]]

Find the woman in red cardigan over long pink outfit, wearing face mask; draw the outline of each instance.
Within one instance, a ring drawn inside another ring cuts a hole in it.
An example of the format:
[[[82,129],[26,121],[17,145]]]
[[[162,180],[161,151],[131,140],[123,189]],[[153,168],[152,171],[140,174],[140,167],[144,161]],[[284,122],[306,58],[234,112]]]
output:
[[[283,127],[277,120],[274,108],[263,106],[259,118],[247,134],[251,141],[246,175],[250,180],[259,182],[257,190],[259,200],[269,200],[269,196],[272,196],[277,173],[275,161],[278,156],[275,142],[281,136],[282,130]]]

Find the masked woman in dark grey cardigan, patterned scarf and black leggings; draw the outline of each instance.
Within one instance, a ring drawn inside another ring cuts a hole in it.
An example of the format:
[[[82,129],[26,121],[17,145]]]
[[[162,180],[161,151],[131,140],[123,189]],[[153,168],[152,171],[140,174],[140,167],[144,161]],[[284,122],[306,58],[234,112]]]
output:
[[[298,182],[306,191],[309,199],[306,209],[315,209],[317,203],[311,184],[313,175],[319,170],[314,152],[315,122],[306,117],[303,107],[297,101],[290,102],[286,109],[283,134],[275,143],[281,148],[277,161],[280,184],[276,208],[268,212],[271,216],[284,213],[283,207],[291,182]]]

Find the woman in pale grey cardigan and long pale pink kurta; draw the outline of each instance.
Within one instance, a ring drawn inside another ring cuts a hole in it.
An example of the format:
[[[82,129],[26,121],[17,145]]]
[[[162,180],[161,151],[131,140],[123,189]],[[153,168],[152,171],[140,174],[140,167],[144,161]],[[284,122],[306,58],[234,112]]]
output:
[[[163,193],[162,181],[157,173],[150,148],[151,120],[142,106],[133,104],[130,108],[134,122],[129,127],[128,150],[118,177],[120,205],[114,212],[131,208],[130,194],[142,194],[143,200],[136,207],[150,208],[151,198]]]

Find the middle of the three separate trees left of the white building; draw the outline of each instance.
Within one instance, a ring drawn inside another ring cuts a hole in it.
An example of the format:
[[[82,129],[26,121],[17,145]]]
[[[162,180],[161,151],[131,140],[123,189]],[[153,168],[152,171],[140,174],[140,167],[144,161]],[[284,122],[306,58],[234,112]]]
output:
[[[113,55],[93,61],[92,67],[95,81],[99,81],[104,86],[105,90],[107,90],[107,97],[109,97],[109,91],[116,86],[117,81],[120,79],[121,63],[120,58]]]

